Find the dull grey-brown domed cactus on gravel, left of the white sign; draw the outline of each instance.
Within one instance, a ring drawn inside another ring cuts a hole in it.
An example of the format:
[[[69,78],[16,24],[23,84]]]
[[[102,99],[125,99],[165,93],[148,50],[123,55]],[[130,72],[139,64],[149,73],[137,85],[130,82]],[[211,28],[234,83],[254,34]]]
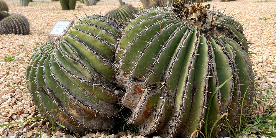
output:
[[[22,34],[30,33],[30,25],[27,18],[23,15],[12,14],[0,22],[0,34]]]

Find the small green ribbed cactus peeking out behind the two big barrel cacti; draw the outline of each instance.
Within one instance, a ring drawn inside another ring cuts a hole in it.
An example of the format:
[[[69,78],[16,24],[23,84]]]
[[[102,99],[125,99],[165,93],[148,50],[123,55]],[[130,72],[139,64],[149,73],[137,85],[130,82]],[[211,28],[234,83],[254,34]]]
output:
[[[132,17],[138,13],[138,10],[132,5],[125,4],[117,9],[111,10],[105,16],[118,20],[120,23],[126,25]]]

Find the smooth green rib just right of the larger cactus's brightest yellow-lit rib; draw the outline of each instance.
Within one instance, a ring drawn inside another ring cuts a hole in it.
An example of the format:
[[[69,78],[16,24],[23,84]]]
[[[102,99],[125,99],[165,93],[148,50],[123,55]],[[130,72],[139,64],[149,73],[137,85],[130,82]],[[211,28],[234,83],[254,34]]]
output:
[[[194,83],[192,88],[192,101],[191,111],[189,119],[191,122],[188,124],[189,134],[196,130],[201,130],[204,124],[205,105],[207,103],[207,91],[208,91],[208,80],[209,73],[208,63],[208,45],[207,39],[204,36],[199,38],[199,46],[197,52],[197,61],[195,65]],[[183,134],[184,135],[184,134]]]

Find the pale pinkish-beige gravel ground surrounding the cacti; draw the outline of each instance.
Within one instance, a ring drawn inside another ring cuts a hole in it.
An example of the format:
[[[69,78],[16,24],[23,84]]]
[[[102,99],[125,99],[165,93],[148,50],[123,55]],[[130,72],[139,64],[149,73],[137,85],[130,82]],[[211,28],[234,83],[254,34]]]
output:
[[[43,42],[57,19],[75,20],[75,15],[81,17],[86,13],[105,14],[108,10],[119,7],[119,2],[98,2],[96,6],[84,6],[77,2],[76,10],[64,11],[59,2],[30,2],[27,7],[20,7],[19,1],[6,1],[10,13],[24,15],[30,21],[30,35],[0,35],[0,125],[22,122],[30,117],[40,117],[36,112],[34,104],[31,102],[27,92],[25,80],[25,67],[32,55],[36,44]],[[270,89],[273,94],[268,97],[267,102],[275,103],[276,97],[276,2],[260,2],[257,0],[237,0],[231,2],[220,2],[213,0],[204,4],[211,4],[211,7],[225,10],[243,23],[246,28],[245,35],[251,45],[250,57],[254,63],[255,81],[259,83],[257,89]],[[141,2],[130,2],[135,7],[142,7]],[[262,20],[262,19],[264,20]],[[266,19],[266,20],[265,20]],[[14,57],[14,60],[5,60],[7,57]],[[266,93],[260,94],[264,99]],[[272,106],[275,108],[274,106]],[[4,126],[0,128],[0,138],[16,137],[20,124]],[[38,126],[38,127],[36,127]],[[18,133],[20,137],[49,138],[49,122],[46,120],[26,122]],[[39,128],[39,129],[38,129]],[[116,135],[109,135],[107,132],[88,134],[85,137],[94,138],[131,138],[133,134],[121,132]],[[73,137],[65,134],[58,128],[55,129],[52,138]],[[137,138],[142,138],[138,136]],[[158,138],[158,137],[156,137]],[[265,137],[264,137],[265,138]]]

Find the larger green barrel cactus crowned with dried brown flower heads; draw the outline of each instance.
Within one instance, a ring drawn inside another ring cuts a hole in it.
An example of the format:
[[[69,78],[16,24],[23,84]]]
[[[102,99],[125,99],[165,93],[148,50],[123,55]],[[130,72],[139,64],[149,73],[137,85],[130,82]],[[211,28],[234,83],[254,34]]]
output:
[[[190,9],[189,14],[194,12],[193,10],[201,9],[200,11],[205,13],[201,20],[207,17],[205,8],[209,9],[200,4],[186,8]],[[153,10],[154,15],[151,15],[150,12]],[[162,137],[179,134],[190,136],[193,131],[205,128],[206,123],[209,132],[217,116],[227,112],[231,114],[230,125],[234,126],[241,109],[242,98],[246,99],[243,105],[243,109],[246,110],[243,113],[248,113],[253,75],[251,62],[246,54],[248,46],[242,28],[229,16],[212,11],[208,13],[209,17],[214,16],[210,28],[216,28],[221,35],[213,35],[211,38],[201,30],[202,28],[190,25],[187,20],[191,19],[178,21],[173,16],[167,16],[166,12],[160,12],[160,9],[159,12],[158,9],[149,10],[134,18],[126,27],[126,33],[121,38],[116,52],[120,61],[117,82],[126,89],[122,104],[132,111],[129,123],[138,125],[140,134],[146,136],[157,131]],[[175,26],[173,31],[166,32],[172,26]],[[223,30],[227,29],[229,31],[225,33]],[[161,37],[163,40],[159,40]],[[180,39],[170,39],[173,37]],[[174,42],[173,49],[172,42],[176,40],[178,41]],[[226,43],[229,40],[235,44]],[[169,55],[165,51],[172,52]],[[165,61],[164,57],[169,61]],[[160,65],[163,65],[163,68],[156,69]],[[205,68],[202,69],[202,66]],[[199,75],[199,72],[203,74]],[[232,79],[218,89],[210,100],[212,92],[231,76]],[[245,87],[249,88],[248,91]],[[197,89],[200,91],[196,91]],[[129,100],[132,97],[134,99]],[[195,102],[195,99],[201,102]],[[173,103],[166,103],[170,107],[164,108],[165,101]],[[210,103],[212,106],[208,107]],[[198,108],[200,110],[197,110]],[[162,114],[161,117],[160,113],[167,115]],[[209,114],[208,118],[206,113]],[[160,120],[163,122],[160,123]],[[211,135],[217,135],[222,126],[226,124],[221,119]],[[224,132],[222,131],[221,135],[222,133]]]

